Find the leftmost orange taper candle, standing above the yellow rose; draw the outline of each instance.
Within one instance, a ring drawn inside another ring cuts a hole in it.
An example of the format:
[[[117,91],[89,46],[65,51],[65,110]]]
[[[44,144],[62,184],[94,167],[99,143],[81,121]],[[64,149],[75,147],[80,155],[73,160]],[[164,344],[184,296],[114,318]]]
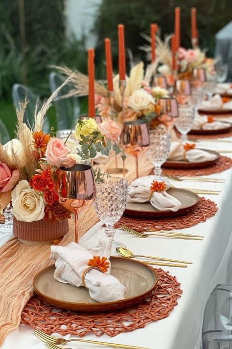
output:
[[[88,73],[89,73],[89,117],[95,116],[95,101],[94,101],[94,51],[88,50]]]

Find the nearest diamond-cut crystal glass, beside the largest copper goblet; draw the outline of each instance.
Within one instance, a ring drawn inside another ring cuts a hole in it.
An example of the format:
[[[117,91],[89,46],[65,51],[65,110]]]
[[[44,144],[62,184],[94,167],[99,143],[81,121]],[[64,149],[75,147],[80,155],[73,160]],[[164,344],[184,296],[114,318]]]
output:
[[[104,178],[103,183],[96,183],[94,208],[99,219],[106,224],[105,233],[112,242],[112,255],[116,255],[116,247],[125,247],[122,242],[114,240],[115,223],[121,218],[126,208],[127,180],[119,177]]]

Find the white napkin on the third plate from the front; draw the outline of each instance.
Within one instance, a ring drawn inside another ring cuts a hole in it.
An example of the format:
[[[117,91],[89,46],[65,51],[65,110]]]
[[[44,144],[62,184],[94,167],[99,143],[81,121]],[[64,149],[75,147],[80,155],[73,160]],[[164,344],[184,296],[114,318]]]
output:
[[[201,162],[215,160],[216,155],[210,154],[207,151],[201,149],[190,149],[186,151],[186,161],[189,162]],[[170,161],[184,160],[184,148],[181,142],[171,142],[170,153],[168,156]]]

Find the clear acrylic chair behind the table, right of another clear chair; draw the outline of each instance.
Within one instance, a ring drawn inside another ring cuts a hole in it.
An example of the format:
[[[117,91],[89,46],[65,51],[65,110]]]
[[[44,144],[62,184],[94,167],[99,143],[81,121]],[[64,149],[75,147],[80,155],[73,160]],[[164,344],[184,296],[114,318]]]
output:
[[[59,74],[49,74],[49,85],[51,92],[54,92],[65,79]],[[73,89],[71,84],[66,84],[54,100],[56,111],[57,130],[72,129],[80,116],[80,104],[78,97],[60,98],[67,95]]]

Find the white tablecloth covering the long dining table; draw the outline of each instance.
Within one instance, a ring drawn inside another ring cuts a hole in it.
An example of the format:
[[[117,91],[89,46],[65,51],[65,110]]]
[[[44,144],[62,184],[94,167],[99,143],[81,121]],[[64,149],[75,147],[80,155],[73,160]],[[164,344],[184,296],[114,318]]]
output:
[[[198,147],[231,150],[232,143],[197,143]],[[225,154],[230,156],[230,154]],[[231,154],[232,156],[232,154]],[[232,284],[232,170],[213,174],[208,178],[226,179],[225,184],[207,182],[174,182],[180,188],[201,188],[221,190],[219,195],[204,195],[218,205],[218,213],[206,222],[185,232],[204,235],[204,241],[164,239],[151,237],[139,239],[121,230],[116,232],[116,240],[126,243],[135,254],[148,254],[193,262],[188,268],[167,268],[181,282],[183,295],[170,315],[162,321],[153,322],[142,329],[122,333],[114,338],[102,336],[103,341],[124,343],[150,349],[200,349],[201,327],[207,299],[217,284]],[[103,228],[96,227],[97,234],[104,234]],[[94,236],[93,227],[82,238],[82,243]],[[4,243],[9,237],[0,237]],[[164,267],[163,267],[164,268]],[[165,269],[165,268],[164,268]],[[11,332],[2,349],[43,349],[45,346],[31,334],[29,327],[20,325]],[[96,339],[88,335],[88,339]],[[93,348],[86,344],[73,344],[70,348]],[[101,346],[96,346],[99,349]],[[95,347],[94,347],[95,348]]]

